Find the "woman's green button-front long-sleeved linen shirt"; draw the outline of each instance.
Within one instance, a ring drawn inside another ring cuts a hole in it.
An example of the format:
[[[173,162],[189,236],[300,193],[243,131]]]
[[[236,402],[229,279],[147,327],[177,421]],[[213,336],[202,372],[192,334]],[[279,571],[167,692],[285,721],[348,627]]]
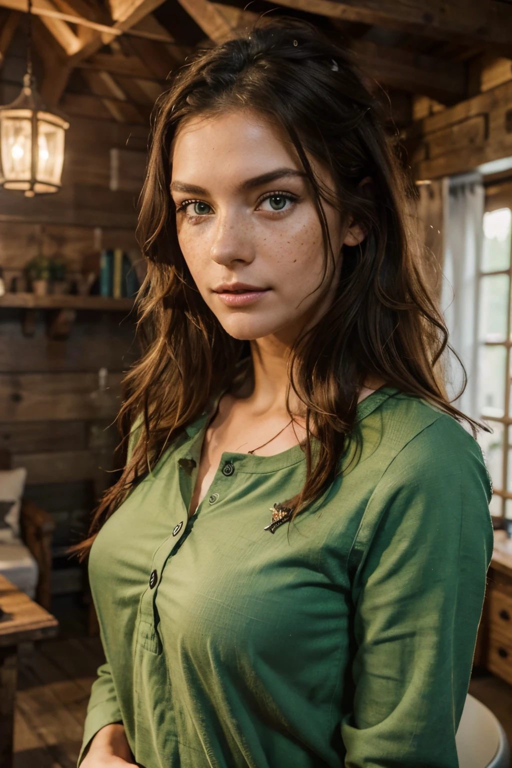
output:
[[[188,518],[209,415],[94,541],[107,663],[78,764],[122,722],[144,768],[456,768],[493,547],[477,442],[379,389],[352,462],[272,533],[270,508],[302,487],[299,445],[224,453]]]

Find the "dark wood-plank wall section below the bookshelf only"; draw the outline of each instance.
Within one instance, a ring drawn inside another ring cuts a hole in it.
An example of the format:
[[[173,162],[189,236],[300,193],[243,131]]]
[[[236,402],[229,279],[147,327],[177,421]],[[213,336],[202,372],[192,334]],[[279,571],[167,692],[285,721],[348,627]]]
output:
[[[23,336],[20,310],[0,310],[0,446],[28,470],[26,495],[55,516],[55,555],[81,538],[111,482],[117,432],[110,427],[121,379],[137,356],[125,313],[78,312],[68,339],[50,339],[45,310]],[[97,394],[98,369],[108,370]],[[55,570],[55,591],[73,591],[76,565]],[[64,581],[63,581],[64,580]]]

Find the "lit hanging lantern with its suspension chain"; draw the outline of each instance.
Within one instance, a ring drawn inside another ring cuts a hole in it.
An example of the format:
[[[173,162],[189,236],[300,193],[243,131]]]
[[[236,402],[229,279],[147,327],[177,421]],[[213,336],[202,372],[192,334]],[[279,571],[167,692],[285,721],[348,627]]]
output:
[[[64,116],[48,110],[35,88],[31,64],[31,2],[28,4],[27,74],[12,104],[0,107],[0,184],[25,197],[57,192],[64,163]]]

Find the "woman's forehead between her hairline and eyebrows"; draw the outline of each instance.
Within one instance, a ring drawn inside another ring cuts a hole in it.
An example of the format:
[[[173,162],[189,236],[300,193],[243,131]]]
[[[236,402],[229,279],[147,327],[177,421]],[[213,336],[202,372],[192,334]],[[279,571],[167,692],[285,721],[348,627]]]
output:
[[[172,179],[207,186],[288,166],[302,170],[284,131],[249,110],[191,118],[173,144]]]

